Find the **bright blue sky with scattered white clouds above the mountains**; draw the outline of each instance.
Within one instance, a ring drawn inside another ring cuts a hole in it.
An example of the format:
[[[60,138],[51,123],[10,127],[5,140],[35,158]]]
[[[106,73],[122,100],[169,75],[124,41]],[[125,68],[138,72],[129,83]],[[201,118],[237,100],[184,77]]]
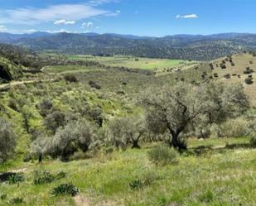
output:
[[[0,32],[256,33],[255,0],[0,0]]]

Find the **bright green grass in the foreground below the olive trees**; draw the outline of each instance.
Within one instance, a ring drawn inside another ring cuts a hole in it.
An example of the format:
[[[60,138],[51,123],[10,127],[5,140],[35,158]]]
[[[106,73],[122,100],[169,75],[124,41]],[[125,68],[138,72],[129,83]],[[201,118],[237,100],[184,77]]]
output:
[[[247,139],[230,139],[232,143]],[[223,146],[224,140],[191,140],[192,147],[200,145]],[[203,143],[202,143],[203,142]],[[219,142],[219,143],[218,143]],[[255,205],[256,152],[250,148],[229,150],[222,148],[204,155],[183,154],[177,165],[156,166],[147,158],[147,150],[114,151],[99,153],[93,159],[63,163],[46,161],[43,165],[24,163],[27,181],[19,185],[0,184],[7,199],[21,197],[24,205]],[[64,170],[67,177],[51,184],[35,185],[33,170],[46,169],[52,173]],[[148,179],[148,177],[151,177]],[[142,189],[131,189],[134,180],[148,179]],[[80,189],[75,199],[51,196],[58,184],[71,182]],[[0,202],[5,205],[6,200]],[[103,204],[104,203],[104,204]],[[86,205],[86,204],[85,204]]]

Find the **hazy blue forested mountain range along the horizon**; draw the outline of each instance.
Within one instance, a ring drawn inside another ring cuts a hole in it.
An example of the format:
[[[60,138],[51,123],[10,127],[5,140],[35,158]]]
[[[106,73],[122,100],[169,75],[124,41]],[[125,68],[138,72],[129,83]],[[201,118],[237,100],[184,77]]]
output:
[[[243,50],[256,50],[256,35],[248,33],[164,37],[97,33],[0,33],[0,42],[25,46],[40,52],[134,55],[186,60],[213,60]]]

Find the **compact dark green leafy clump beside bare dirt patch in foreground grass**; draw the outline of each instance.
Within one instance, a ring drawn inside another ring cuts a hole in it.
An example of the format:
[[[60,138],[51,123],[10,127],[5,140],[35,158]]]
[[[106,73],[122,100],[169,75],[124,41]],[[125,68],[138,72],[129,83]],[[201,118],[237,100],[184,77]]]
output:
[[[75,195],[79,194],[79,189],[70,183],[60,184],[52,190],[51,194],[54,196],[70,194],[72,197],[75,197]]]

